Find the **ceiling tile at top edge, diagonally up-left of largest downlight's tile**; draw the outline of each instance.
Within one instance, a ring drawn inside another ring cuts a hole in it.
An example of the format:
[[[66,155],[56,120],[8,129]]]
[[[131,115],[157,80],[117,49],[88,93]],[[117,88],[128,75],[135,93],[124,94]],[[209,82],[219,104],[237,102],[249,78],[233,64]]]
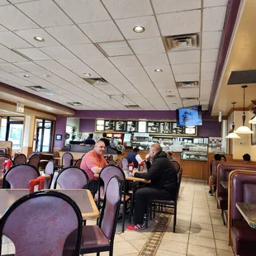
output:
[[[76,23],[111,20],[106,9],[98,0],[55,0],[55,2]]]

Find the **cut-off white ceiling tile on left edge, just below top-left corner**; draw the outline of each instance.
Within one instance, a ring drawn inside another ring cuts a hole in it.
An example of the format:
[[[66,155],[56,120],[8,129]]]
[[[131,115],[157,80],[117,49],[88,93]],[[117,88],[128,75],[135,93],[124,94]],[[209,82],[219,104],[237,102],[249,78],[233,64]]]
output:
[[[12,5],[0,7],[0,24],[12,31],[38,27],[35,22]]]

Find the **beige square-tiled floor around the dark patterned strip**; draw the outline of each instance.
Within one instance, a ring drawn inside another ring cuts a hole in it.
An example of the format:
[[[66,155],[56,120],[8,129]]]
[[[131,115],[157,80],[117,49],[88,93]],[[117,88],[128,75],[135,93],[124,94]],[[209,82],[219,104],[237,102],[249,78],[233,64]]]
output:
[[[121,233],[119,224],[115,236],[114,255],[149,255],[140,251],[149,245],[147,240],[158,221],[159,218],[152,220],[149,229],[140,232]],[[87,225],[94,223],[95,221],[88,221]],[[173,220],[170,220],[166,232],[162,235],[163,239],[159,241],[159,248],[155,251],[156,256],[235,255],[227,245],[227,229],[221,222],[220,212],[216,209],[216,200],[208,195],[208,187],[204,183],[183,180],[178,202],[176,233],[173,233]],[[3,242],[2,254],[13,253],[14,246],[11,241],[4,239]]]

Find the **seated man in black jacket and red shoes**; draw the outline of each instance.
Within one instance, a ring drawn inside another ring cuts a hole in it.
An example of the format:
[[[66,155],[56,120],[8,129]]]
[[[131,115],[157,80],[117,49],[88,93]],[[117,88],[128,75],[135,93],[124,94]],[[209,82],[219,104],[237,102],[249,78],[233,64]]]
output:
[[[150,164],[150,159],[153,163]],[[158,144],[151,145],[149,154],[145,157],[147,173],[134,172],[136,178],[150,180],[149,187],[142,187],[135,192],[134,223],[128,225],[126,230],[144,230],[144,215],[148,200],[173,200],[178,186],[177,173],[167,154]]]

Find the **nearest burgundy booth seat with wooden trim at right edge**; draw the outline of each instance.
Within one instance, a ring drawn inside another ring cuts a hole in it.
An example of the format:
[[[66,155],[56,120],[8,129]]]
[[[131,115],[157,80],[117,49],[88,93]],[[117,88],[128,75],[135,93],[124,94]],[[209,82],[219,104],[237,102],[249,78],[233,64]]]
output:
[[[244,220],[236,202],[256,204],[256,173],[237,171],[230,173],[229,239],[235,254],[254,256],[256,252],[256,230]]]

